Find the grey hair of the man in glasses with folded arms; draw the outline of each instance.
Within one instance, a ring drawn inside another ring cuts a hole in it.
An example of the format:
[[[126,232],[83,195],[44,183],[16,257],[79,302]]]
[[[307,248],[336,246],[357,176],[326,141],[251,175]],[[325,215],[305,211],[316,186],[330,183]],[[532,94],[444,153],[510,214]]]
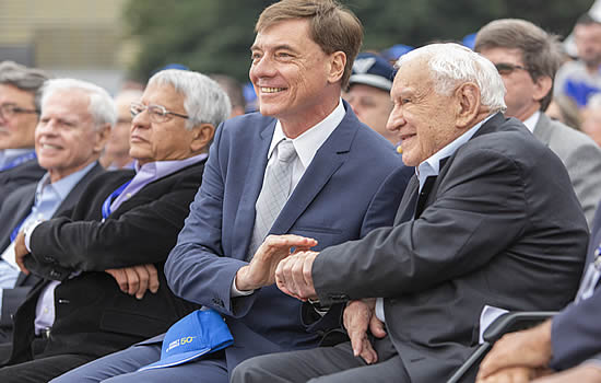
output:
[[[166,69],[149,80],[149,86],[152,84],[172,85],[184,95],[184,107],[189,116],[187,129],[199,124],[211,124],[216,128],[232,113],[232,104],[225,91],[202,73]]]

